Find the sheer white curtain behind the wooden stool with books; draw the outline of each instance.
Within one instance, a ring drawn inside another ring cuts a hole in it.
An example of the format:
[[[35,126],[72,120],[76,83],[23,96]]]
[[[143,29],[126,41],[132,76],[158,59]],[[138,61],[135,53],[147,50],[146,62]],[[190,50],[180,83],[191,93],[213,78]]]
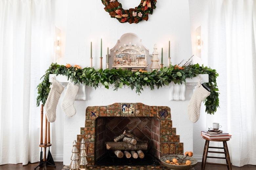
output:
[[[220,107],[206,127],[220,122],[232,134],[232,164],[256,164],[256,1],[209,0],[208,65],[220,76]],[[223,155],[222,155],[223,156]]]

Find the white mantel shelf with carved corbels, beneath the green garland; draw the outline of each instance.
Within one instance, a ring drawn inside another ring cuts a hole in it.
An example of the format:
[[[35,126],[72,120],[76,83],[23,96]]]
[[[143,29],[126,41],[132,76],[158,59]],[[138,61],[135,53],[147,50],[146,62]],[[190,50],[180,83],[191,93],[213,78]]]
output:
[[[67,76],[58,75],[56,74],[50,74],[49,82],[52,82],[52,78],[55,78],[58,82],[62,83],[64,86],[67,83],[70,83],[71,81],[68,80]],[[168,86],[162,86],[160,88],[169,88],[169,100],[170,101],[184,101],[185,100],[185,90],[187,89],[194,89],[197,85],[197,83],[200,81],[201,77],[201,83],[207,83],[209,82],[209,76],[208,74],[201,74],[199,76],[193,77],[193,78],[186,78],[186,83],[183,84],[174,84],[171,82]],[[84,86],[80,85],[78,94],[76,96],[76,100],[86,100],[86,89],[92,88],[90,86]],[[104,85],[100,84],[98,89],[105,88]],[[113,89],[114,85],[109,85],[109,89]],[[125,85],[122,87],[122,89],[128,89],[129,86]],[[148,86],[143,88],[149,88]],[[157,90],[157,87],[155,87],[155,90]],[[143,92],[142,92],[143,93]]]

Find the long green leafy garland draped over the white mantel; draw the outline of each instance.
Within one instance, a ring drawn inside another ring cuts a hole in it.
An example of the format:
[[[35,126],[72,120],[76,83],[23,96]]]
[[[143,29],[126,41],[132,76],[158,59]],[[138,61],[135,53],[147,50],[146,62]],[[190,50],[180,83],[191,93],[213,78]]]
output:
[[[114,90],[122,88],[123,85],[128,85],[132,90],[136,88],[136,93],[138,94],[143,91],[143,86],[149,86],[151,90],[153,90],[154,86],[159,88],[168,85],[172,81],[175,84],[182,84],[186,81],[186,78],[192,78],[199,74],[208,74],[209,82],[205,83],[205,85],[211,89],[211,94],[204,101],[204,105],[206,106],[205,111],[208,114],[214,114],[217,111],[217,107],[219,107],[219,90],[216,83],[216,78],[219,75],[216,70],[208,68],[207,66],[200,66],[199,64],[188,65],[184,67],[183,70],[170,65],[169,68],[164,67],[158,72],[141,73],[122,69],[102,70],[88,67],[83,69],[77,69],[75,67],[66,68],[65,65],[52,63],[49,69],[46,70],[45,75],[41,77],[43,81],[37,86],[37,106],[39,106],[40,102],[43,104],[46,102],[50,92],[50,74],[64,75],[75,82],[75,84],[82,83],[94,88],[97,88],[99,83],[104,84],[107,89],[109,88],[109,84],[114,84]]]

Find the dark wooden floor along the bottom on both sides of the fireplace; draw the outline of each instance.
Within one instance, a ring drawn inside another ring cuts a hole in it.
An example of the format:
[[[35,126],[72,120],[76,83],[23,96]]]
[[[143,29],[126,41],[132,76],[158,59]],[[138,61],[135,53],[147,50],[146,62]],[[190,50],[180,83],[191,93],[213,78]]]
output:
[[[37,168],[40,170],[61,170],[63,167],[63,162],[55,162],[56,168],[48,166],[45,168]],[[22,164],[6,164],[0,165],[0,170],[33,170],[38,163],[29,163],[28,165],[22,166]],[[201,162],[199,162],[195,170],[201,170]],[[218,166],[218,165],[206,165],[205,170],[227,170],[225,166]],[[232,166],[232,170],[256,170],[255,165],[245,165],[243,167]]]

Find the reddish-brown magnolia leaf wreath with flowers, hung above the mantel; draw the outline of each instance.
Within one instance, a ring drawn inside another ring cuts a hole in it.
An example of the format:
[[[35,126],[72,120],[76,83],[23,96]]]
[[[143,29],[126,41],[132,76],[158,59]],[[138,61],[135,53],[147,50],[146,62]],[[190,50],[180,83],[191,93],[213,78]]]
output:
[[[101,0],[101,2],[105,6],[105,11],[120,23],[137,24],[142,20],[148,20],[148,14],[153,14],[153,9],[156,9],[157,0],[141,0],[138,7],[130,9],[122,9],[122,4],[117,0]]]

